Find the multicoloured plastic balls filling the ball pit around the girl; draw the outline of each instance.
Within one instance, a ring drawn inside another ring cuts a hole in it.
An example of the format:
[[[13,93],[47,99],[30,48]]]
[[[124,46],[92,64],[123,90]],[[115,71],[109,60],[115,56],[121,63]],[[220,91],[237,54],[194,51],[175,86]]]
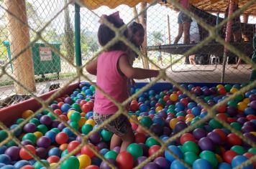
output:
[[[182,84],[181,87],[192,92],[209,106],[213,106],[223,100],[226,95],[237,92],[241,86],[219,84],[212,87],[199,87],[193,84]],[[138,89],[132,91],[137,92]],[[251,90],[244,95],[239,95],[216,110],[217,118],[229,123],[252,142],[256,141],[255,91]],[[93,120],[94,93],[93,86],[81,83],[71,95],[57,98],[50,107],[55,115],[68,122],[74,130],[88,135],[98,127]],[[204,118],[207,110],[173,86],[168,87],[167,90],[160,91],[155,88],[143,92],[137,100],[132,100],[128,113],[133,117],[130,122],[134,130],[134,143],[130,144],[126,151],[120,152],[120,147],[109,150],[113,133],[101,129],[89,137],[88,145],[83,145],[68,160],[61,163],[60,168],[109,168],[106,162],[96,157],[89,145],[118,168],[134,168],[161,148],[160,143],[135,124],[135,121],[140,122],[165,142],[176,133]],[[34,115],[32,110],[22,112],[21,118],[9,128],[14,129],[31,115]],[[55,166],[82,141],[81,137],[73,133],[73,130],[57,120],[52,112],[47,111],[31,118],[22,129],[16,130],[14,135],[32,154],[37,155],[42,163],[49,166]],[[0,130],[0,141],[6,137],[8,137],[7,133]],[[182,158],[187,165],[205,169],[234,168],[256,154],[255,148],[251,148],[215,119],[207,120],[191,132],[180,135],[178,139],[168,143],[168,150]],[[158,154],[144,168],[186,168],[168,150]],[[247,165],[246,168],[256,168],[255,164]],[[24,148],[20,148],[13,141],[0,147],[0,168],[2,166],[23,169],[42,168],[42,165],[33,160]]]

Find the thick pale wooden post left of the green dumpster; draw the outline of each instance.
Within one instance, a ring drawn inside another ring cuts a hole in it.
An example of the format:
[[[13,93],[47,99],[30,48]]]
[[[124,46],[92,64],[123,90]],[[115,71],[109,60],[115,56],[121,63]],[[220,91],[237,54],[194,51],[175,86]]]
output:
[[[26,4],[25,0],[5,0],[6,8],[14,14],[7,15],[9,42],[12,52],[12,57],[17,56],[30,42],[29,28],[22,24],[17,18],[24,23],[27,23]],[[16,17],[15,17],[16,16]],[[14,67],[14,77],[18,82],[22,83],[31,92],[36,91],[35,87],[35,72],[32,60],[31,47],[25,50],[22,54],[12,62]],[[17,94],[27,94],[19,84],[14,83]]]

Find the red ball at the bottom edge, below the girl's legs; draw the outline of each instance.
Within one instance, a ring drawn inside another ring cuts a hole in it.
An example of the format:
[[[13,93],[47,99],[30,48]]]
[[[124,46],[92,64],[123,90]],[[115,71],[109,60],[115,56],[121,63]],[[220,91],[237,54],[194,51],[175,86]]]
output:
[[[134,165],[133,156],[127,151],[123,151],[117,155],[116,164],[119,168],[130,169]]]

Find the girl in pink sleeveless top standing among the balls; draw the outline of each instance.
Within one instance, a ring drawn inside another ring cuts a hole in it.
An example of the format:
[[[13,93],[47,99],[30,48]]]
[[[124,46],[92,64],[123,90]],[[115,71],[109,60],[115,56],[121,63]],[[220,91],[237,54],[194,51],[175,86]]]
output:
[[[124,25],[118,12],[109,16],[105,15],[104,18],[116,28]],[[124,36],[126,35],[127,32],[124,32]],[[99,26],[98,39],[102,47],[114,37],[115,33],[108,26],[105,24]],[[157,70],[133,68],[129,64],[129,56],[126,54],[126,50],[127,47],[122,42],[116,42],[86,66],[86,70],[89,73],[96,75],[96,85],[120,103],[128,98],[127,78],[145,79],[157,77],[159,74]],[[105,97],[102,92],[96,90],[93,110],[93,118],[96,123],[101,124],[117,111],[118,107]],[[111,150],[121,145],[121,151],[124,151],[129,144],[133,143],[134,134],[126,116],[119,115],[104,127],[106,130],[114,132],[110,143]]]

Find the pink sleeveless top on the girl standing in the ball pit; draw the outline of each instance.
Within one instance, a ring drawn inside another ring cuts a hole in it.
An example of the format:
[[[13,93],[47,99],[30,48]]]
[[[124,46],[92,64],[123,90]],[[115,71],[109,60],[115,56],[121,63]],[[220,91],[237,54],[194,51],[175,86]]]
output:
[[[127,77],[122,76],[117,69],[119,57],[123,54],[122,51],[104,52],[97,61],[96,84],[118,102],[124,102],[129,97]],[[112,115],[118,108],[96,90],[93,110],[101,115]]]

